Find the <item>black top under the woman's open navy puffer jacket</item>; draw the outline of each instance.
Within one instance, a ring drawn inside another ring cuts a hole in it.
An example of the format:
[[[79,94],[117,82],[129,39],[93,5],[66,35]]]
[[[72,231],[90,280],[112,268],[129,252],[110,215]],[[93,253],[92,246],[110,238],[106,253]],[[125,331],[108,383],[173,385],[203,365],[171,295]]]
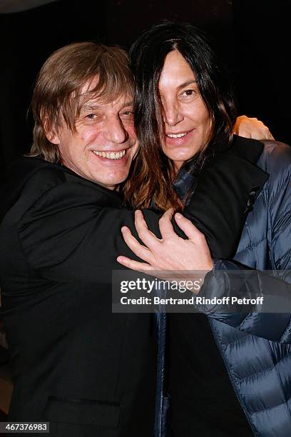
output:
[[[170,314],[170,425],[178,437],[253,436],[207,316]]]

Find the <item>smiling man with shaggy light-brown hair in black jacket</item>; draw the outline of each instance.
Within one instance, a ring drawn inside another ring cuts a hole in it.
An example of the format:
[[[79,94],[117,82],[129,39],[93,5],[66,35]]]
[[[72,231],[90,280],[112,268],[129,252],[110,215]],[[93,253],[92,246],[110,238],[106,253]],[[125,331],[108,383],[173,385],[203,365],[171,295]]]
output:
[[[111,271],[126,249],[120,229],[133,223],[118,194],[138,152],[132,99],[123,50],[83,42],[56,51],[34,89],[31,156],[6,189],[9,419],[50,421],[52,436],[153,431],[153,316],[111,311]]]

